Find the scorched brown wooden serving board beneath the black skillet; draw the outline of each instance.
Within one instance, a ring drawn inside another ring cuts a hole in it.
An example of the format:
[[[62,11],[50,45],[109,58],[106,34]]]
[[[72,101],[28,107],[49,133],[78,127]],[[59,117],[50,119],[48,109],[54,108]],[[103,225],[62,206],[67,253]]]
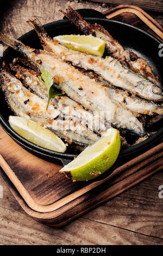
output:
[[[128,14],[123,16],[123,22],[126,17],[127,22],[139,24],[140,19],[135,14],[132,19]],[[61,165],[28,153],[2,128],[0,138],[2,179],[29,216],[54,227],[71,222],[126,191],[161,170],[163,164],[163,142],[160,142],[146,153],[118,166],[103,180],[72,182],[59,174]]]

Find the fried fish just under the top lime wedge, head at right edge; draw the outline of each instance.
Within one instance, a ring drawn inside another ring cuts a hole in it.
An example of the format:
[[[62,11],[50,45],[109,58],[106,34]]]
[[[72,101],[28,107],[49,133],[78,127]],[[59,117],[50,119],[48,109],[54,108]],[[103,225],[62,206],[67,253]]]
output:
[[[101,75],[113,86],[128,90],[128,92],[138,95],[147,100],[162,101],[163,93],[160,87],[145,77],[129,70],[117,59],[108,56],[101,58],[83,52],[73,51],[57,43],[57,40],[49,38],[45,29],[40,27],[39,21],[34,18],[28,23],[32,25],[39,35],[41,42],[46,45],[46,50],[51,50],[56,58],[62,58],[72,65],[85,70],[93,70]]]

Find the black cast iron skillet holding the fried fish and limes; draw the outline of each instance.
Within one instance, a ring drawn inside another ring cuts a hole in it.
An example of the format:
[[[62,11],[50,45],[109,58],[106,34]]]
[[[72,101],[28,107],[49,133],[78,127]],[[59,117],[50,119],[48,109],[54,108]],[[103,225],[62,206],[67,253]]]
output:
[[[132,51],[137,53],[138,56],[148,60],[149,64],[152,66],[156,75],[159,76],[161,82],[163,83],[163,74],[161,72],[161,67],[163,66],[163,58],[159,57],[159,44],[160,41],[155,39],[152,35],[142,31],[139,28],[136,28],[131,25],[127,25],[123,22],[113,21],[105,19],[105,16],[98,11],[90,9],[80,9],[78,10],[87,21],[91,23],[99,23],[105,29],[107,29],[115,39],[121,42],[124,48],[130,48]],[[55,21],[44,25],[46,31],[50,36],[56,36],[61,34],[79,34],[78,29],[71,25],[70,22],[64,17],[64,20]],[[29,45],[30,47],[40,48],[40,41],[36,32],[30,31],[21,36],[20,40]],[[18,53],[12,48],[8,47],[3,54],[3,58],[0,60],[0,65],[2,66],[3,60],[7,62],[11,61],[13,58],[18,56]],[[3,129],[10,135],[14,141],[20,144],[23,148],[30,151],[31,153],[46,159],[48,161],[61,161],[64,165],[73,160],[77,156],[76,153],[72,151],[66,151],[66,153],[58,153],[56,151],[44,149],[39,147],[26,139],[19,136],[15,131],[13,131],[8,123],[9,115],[13,114],[8,108],[7,102],[4,99],[4,95],[0,92],[1,99],[1,111],[0,111],[0,124]],[[159,140],[162,138],[163,127],[162,125],[158,127],[158,131],[151,136],[133,147],[122,150],[118,161],[124,162],[128,161],[132,157],[135,157],[146,150],[152,148]],[[115,167],[115,165],[114,165]],[[106,172],[104,175],[109,175],[114,168],[111,168],[109,172]],[[104,175],[101,175],[101,178],[104,178]]]

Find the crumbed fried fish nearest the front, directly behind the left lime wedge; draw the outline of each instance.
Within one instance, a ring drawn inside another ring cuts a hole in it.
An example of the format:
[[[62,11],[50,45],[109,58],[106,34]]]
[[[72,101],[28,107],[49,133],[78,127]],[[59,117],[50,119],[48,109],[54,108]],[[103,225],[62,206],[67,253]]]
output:
[[[49,104],[48,111],[46,111],[48,100],[31,93],[9,72],[2,70],[0,81],[5,98],[16,115],[40,123],[43,127],[66,139],[68,143],[87,146],[99,139],[99,135],[76,121],[54,120],[60,115],[60,111],[54,108],[53,103]]]

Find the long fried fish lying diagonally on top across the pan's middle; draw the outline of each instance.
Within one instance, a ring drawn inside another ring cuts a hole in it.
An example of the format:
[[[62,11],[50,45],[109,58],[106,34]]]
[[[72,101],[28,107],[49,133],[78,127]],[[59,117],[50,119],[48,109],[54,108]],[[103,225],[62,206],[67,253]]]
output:
[[[54,83],[71,99],[87,110],[103,113],[103,118],[109,125],[120,130],[129,130],[140,137],[145,135],[145,129],[134,114],[118,103],[112,102],[106,88],[100,86],[95,80],[84,76],[63,60],[55,58],[52,53],[25,46],[6,34],[1,33],[0,39],[24,54],[41,72],[47,70],[53,77]]]

